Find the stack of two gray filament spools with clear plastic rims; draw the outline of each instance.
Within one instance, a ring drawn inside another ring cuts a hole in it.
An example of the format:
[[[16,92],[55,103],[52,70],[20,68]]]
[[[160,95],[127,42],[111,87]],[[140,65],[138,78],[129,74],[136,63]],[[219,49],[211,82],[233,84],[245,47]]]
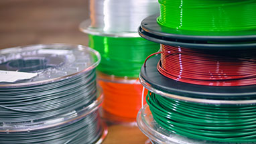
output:
[[[0,143],[101,143],[99,52],[68,44],[0,50]]]

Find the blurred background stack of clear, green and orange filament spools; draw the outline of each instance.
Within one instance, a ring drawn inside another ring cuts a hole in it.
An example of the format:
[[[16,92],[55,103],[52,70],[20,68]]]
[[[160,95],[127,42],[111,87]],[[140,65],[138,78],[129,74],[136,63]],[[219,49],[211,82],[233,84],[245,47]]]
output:
[[[141,108],[139,71],[159,44],[141,38],[137,28],[157,11],[156,0],[90,0],[90,19],[80,30],[88,33],[90,48],[102,56],[98,79],[105,95],[103,117],[110,121],[134,122]]]

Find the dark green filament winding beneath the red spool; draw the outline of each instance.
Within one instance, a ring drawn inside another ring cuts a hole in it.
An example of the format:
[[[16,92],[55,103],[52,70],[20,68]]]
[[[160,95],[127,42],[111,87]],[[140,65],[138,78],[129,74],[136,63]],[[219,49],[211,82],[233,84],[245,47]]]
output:
[[[200,104],[152,92],[146,99],[155,121],[173,133],[226,143],[256,142],[255,104]]]

